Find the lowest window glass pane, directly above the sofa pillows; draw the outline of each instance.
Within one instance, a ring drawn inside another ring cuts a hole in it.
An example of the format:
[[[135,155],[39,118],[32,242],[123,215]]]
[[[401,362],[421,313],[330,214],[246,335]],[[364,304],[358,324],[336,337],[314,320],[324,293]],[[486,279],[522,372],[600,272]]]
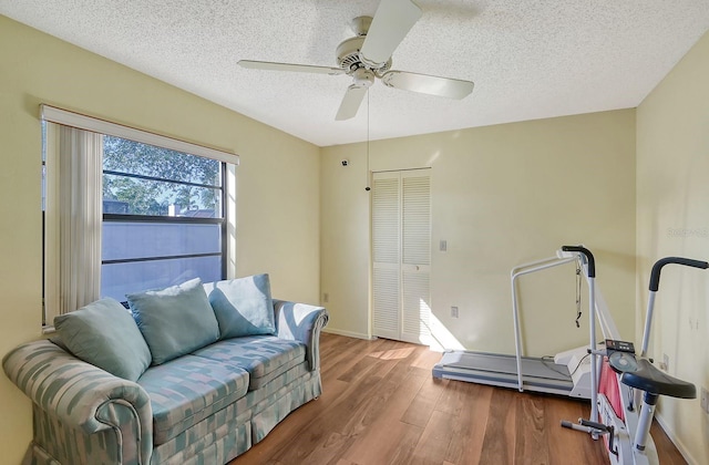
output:
[[[203,282],[222,279],[222,257],[181,258],[101,266],[101,297],[125,301],[126,293],[179,285],[188,279]]]

